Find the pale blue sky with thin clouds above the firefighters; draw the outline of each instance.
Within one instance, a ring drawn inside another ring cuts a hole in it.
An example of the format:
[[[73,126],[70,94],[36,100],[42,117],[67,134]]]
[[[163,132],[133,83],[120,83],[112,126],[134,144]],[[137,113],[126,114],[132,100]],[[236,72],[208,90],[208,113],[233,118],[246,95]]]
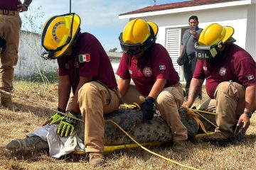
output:
[[[157,0],[156,5],[178,1],[185,0]],[[106,51],[117,47],[117,52],[120,52],[118,37],[129,20],[119,20],[119,14],[146,6],[154,6],[154,0],[72,0],[71,12],[80,16],[81,32],[95,35]],[[21,29],[41,33],[43,23],[50,16],[69,11],[70,0],[33,0],[28,11],[21,13]]]

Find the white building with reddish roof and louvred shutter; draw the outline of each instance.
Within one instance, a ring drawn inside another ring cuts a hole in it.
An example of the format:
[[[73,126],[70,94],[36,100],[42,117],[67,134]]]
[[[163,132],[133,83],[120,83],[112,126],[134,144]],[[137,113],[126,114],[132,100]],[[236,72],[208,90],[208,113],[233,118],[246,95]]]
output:
[[[172,4],[147,6],[119,15],[119,19],[143,18],[159,26],[156,42],[168,50],[174,67],[183,80],[182,68],[176,60],[179,56],[181,38],[188,28],[188,18],[198,16],[199,27],[210,23],[235,28],[233,38],[256,60],[256,0],[196,0]]]

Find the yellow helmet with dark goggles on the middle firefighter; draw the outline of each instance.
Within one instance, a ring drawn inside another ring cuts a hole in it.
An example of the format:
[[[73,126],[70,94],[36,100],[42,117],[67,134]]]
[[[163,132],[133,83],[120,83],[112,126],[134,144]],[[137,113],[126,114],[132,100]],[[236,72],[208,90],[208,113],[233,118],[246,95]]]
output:
[[[156,42],[157,33],[158,26],[156,23],[139,18],[130,21],[119,36],[123,52],[136,55],[142,50],[146,50]]]

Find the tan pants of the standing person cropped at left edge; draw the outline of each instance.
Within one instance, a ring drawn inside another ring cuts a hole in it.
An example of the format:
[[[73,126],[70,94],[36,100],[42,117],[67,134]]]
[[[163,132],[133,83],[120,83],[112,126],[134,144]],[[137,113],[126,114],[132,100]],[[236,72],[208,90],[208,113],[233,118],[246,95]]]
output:
[[[12,91],[14,89],[14,66],[18,62],[18,41],[21,30],[21,18],[18,13],[15,16],[0,14],[0,35],[6,39],[6,50],[0,53],[0,89]],[[1,97],[5,94],[1,94]]]

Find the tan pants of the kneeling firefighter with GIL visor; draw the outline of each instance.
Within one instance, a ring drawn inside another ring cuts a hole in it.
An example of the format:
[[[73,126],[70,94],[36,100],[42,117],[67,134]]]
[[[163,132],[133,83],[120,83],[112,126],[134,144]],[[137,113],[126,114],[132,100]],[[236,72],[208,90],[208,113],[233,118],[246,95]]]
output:
[[[232,136],[234,126],[245,109],[245,87],[235,82],[222,82],[217,86],[214,98],[208,98],[198,109],[215,110],[218,125],[215,132]]]

